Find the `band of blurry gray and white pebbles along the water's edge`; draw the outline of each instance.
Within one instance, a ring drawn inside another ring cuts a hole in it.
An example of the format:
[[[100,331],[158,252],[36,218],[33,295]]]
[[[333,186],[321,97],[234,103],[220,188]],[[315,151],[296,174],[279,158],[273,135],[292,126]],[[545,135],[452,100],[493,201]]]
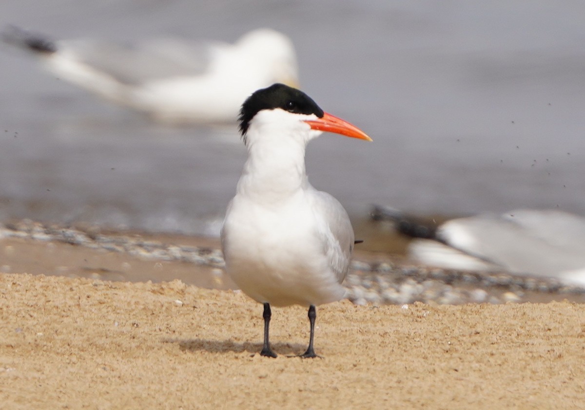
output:
[[[166,245],[159,241],[144,240],[140,236],[102,234],[40,224],[30,220],[0,226],[0,239],[2,238],[64,242],[90,249],[128,253],[142,259],[194,263],[212,267],[216,284],[221,284],[219,282],[222,280],[224,262],[220,249]],[[5,249],[5,252],[9,251]],[[0,272],[10,270],[10,266],[0,266]],[[554,279],[503,272],[479,273],[438,269],[393,263],[388,260],[382,262],[353,260],[344,285],[347,289],[346,298],[357,305],[405,305],[415,302],[518,303],[552,300],[555,296],[558,296],[557,300],[573,297],[577,301],[585,301],[585,289],[566,286]]]

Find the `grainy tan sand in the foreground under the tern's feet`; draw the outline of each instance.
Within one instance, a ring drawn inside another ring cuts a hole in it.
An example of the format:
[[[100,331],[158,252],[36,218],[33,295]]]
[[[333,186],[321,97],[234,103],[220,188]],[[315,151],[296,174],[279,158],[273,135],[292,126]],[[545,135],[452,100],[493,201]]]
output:
[[[191,270],[198,269],[191,266]],[[2,408],[582,408],[585,305],[274,308],[184,284],[0,275]]]

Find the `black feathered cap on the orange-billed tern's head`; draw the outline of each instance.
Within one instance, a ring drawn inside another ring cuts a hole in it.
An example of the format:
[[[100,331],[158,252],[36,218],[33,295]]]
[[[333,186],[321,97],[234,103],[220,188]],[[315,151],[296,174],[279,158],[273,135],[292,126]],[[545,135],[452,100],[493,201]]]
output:
[[[273,84],[250,95],[240,110],[240,133],[246,134],[250,121],[261,110],[276,108],[294,114],[315,114],[323,117],[323,110],[304,92],[284,84]]]

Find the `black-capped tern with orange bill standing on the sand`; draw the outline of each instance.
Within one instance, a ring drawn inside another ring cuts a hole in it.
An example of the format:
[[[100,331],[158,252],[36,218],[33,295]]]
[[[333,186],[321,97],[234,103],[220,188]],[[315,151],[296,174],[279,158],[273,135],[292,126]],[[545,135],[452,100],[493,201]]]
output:
[[[309,307],[311,337],[302,357],[315,357],[315,305],[341,299],[354,246],[338,200],[311,186],[307,143],[322,131],[371,141],[352,124],[325,113],[305,93],[283,84],[254,92],[240,111],[248,158],[221,232],[226,272],[264,304],[262,356],[270,348],[270,305]]]

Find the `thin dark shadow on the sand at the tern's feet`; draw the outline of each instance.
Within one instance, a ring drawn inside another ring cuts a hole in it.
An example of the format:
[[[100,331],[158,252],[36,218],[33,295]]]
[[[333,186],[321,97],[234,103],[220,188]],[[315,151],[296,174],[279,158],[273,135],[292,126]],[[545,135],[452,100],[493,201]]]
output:
[[[262,343],[243,342],[233,340],[209,340],[209,339],[163,339],[163,343],[176,343],[181,350],[187,352],[198,352],[205,350],[210,353],[260,353]],[[307,349],[307,346],[298,343],[270,343],[271,348],[278,355],[297,356]]]

